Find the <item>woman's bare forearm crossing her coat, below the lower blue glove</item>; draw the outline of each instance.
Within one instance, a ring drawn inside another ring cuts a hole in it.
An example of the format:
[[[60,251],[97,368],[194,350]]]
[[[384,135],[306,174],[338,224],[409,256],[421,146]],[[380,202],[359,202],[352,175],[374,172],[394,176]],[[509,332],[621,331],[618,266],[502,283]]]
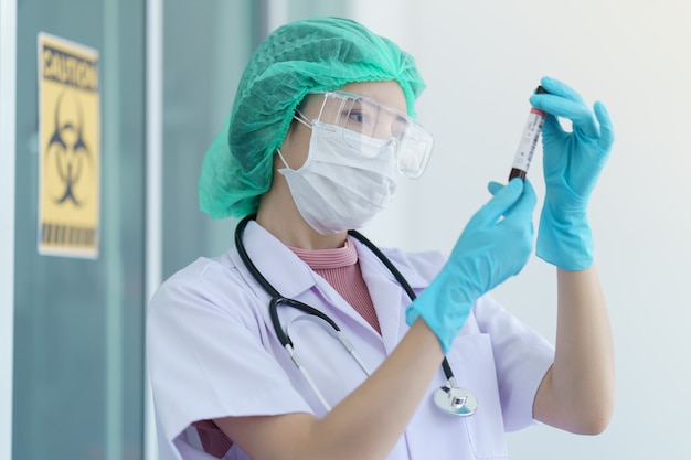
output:
[[[384,459],[419,406],[443,357],[439,340],[418,319],[372,376],[322,419],[287,414],[215,421],[257,460]]]

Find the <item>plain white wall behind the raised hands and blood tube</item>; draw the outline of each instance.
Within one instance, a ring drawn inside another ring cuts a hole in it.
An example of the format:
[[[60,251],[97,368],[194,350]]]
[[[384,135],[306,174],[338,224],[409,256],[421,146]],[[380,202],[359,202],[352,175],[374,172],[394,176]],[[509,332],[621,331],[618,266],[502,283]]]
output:
[[[512,434],[511,458],[690,459],[691,3],[355,3],[357,19],[416,56],[428,83],[419,119],[437,141],[426,175],[369,228],[380,244],[451,248],[488,197],[486,183],[506,180],[540,76],[603,100],[613,117],[617,140],[591,221],[615,338],[616,413],[598,437],[542,426]],[[536,157],[529,176],[542,196]],[[534,258],[495,297],[553,339],[546,264]]]

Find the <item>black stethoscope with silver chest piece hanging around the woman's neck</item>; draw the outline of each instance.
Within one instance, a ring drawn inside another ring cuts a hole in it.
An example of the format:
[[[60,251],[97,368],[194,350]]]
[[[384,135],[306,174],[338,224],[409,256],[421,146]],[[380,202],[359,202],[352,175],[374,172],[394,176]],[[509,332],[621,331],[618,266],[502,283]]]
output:
[[[245,264],[245,267],[247,268],[247,270],[249,270],[249,274],[253,276],[253,278],[259,285],[262,285],[262,288],[264,288],[264,290],[267,293],[272,296],[272,300],[269,301],[269,304],[268,304],[268,312],[272,318],[272,324],[274,327],[274,331],[276,332],[276,336],[278,338],[278,341],[286,349],[286,351],[290,355],[290,359],[293,360],[293,363],[300,371],[300,373],[307,381],[308,385],[310,386],[315,395],[317,395],[317,398],[319,398],[323,407],[327,410],[331,410],[331,406],[326,400],[326,398],[323,397],[323,395],[321,394],[321,392],[315,384],[313,379],[311,378],[311,376],[305,368],[305,365],[302,364],[297,353],[295,352],[295,349],[293,346],[293,341],[290,340],[290,336],[288,334],[290,325],[295,321],[309,320],[309,321],[313,321],[322,325],[329,332],[329,334],[331,334],[331,336],[337,339],[343,345],[343,347],[358,362],[358,365],[362,368],[362,371],[364,371],[364,373],[368,376],[370,376],[371,373],[368,370],[368,367],[364,365],[364,362],[360,357],[360,354],[358,353],[358,351],[353,347],[350,341],[343,335],[343,333],[341,332],[341,329],[338,327],[338,324],[333,320],[331,320],[331,318],[329,318],[321,311],[317,310],[316,308],[310,307],[304,302],[300,302],[299,300],[289,299],[289,298],[281,296],[276,290],[276,288],[274,288],[267,281],[267,279],[262,275],[262,272],[257,269],[257,267],[254,265],[254,263],[247,255],[247,250],[245,249],[245,245],[243,244],[243,238],[242,238],[243,232],[245,231],[247,223],[249,221],[253,221],[254,218],[255,218],[255,215],[248,215],[244,217],[237,224],[237,227],[235,228],[235,247],[237,248],[240,258],[243,260],[243,264]],[[370,242],[368,238],[365,238],[361,233],[357,231],[348,231],[348,234],[354,237],[355,239],[358,239],[359,242],[361,242],[362,244],[364,244],[372,253],[374,253],[374,255],[386,266],[386,268],[391,271],[391,274],[401,284],[401,286],[403,287],[407,296],[411,298],[411,300],[415,300],[415,292],[411,288],[411,285],[408,285],[407,280],[403,277],[403,275],[398,271],[398,269],[391,263],[391,260],[389,260],[389,258],[372,242]],[[280,324],[280,320],[278,319],[279,306],[293,307],[307,314],[296,317],[296,319],[290,321],[290,323],[284,330],[284,328]],[[466,416],[470,416],[475,414],[475,411],[478,408],[478,399],[475,397],[475,395],[470,391],[461,386],[458,386],[458,384],[456,383],[456,377],[454,376],[454,372],[451,371],[451,367],[448,364],[448,360],[446,357],[444,357],[444,361],[442,362],[442,368],[444,370],[444,375],[446,376],[448,385],[444,385],[434,392],[435,405],[442,410],[451,415],[456,415],[456,416],[466,417]]]

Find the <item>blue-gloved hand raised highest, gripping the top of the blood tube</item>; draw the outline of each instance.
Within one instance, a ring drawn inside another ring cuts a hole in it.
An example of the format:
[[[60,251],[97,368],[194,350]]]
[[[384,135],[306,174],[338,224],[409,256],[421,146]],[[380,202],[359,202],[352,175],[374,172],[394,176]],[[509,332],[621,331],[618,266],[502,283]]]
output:
[[[544,77],[541,84],[549,94],[530,98],[548,113],[542,127],[545,199],[536,254],[565,270],[583,270],[593,264],[588,200],[609,157],[614,131],[603,104],[595,103],[593,114],[563,83]],[[565,131],[556,117],[570,119],[573,130]]]

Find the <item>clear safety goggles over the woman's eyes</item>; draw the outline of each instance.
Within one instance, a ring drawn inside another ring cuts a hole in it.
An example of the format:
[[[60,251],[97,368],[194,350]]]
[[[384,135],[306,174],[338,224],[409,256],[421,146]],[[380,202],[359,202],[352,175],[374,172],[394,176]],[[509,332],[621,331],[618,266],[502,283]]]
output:
[[[344,92],[310,93],[310,95],[323,97],[317,121],[373,139],[391,140],[398,172],[410,179],[423,175],[434,142],[429,131],[421,124],[371,97]],[[351,143],[352,139],[343,136],[343,141]]]

